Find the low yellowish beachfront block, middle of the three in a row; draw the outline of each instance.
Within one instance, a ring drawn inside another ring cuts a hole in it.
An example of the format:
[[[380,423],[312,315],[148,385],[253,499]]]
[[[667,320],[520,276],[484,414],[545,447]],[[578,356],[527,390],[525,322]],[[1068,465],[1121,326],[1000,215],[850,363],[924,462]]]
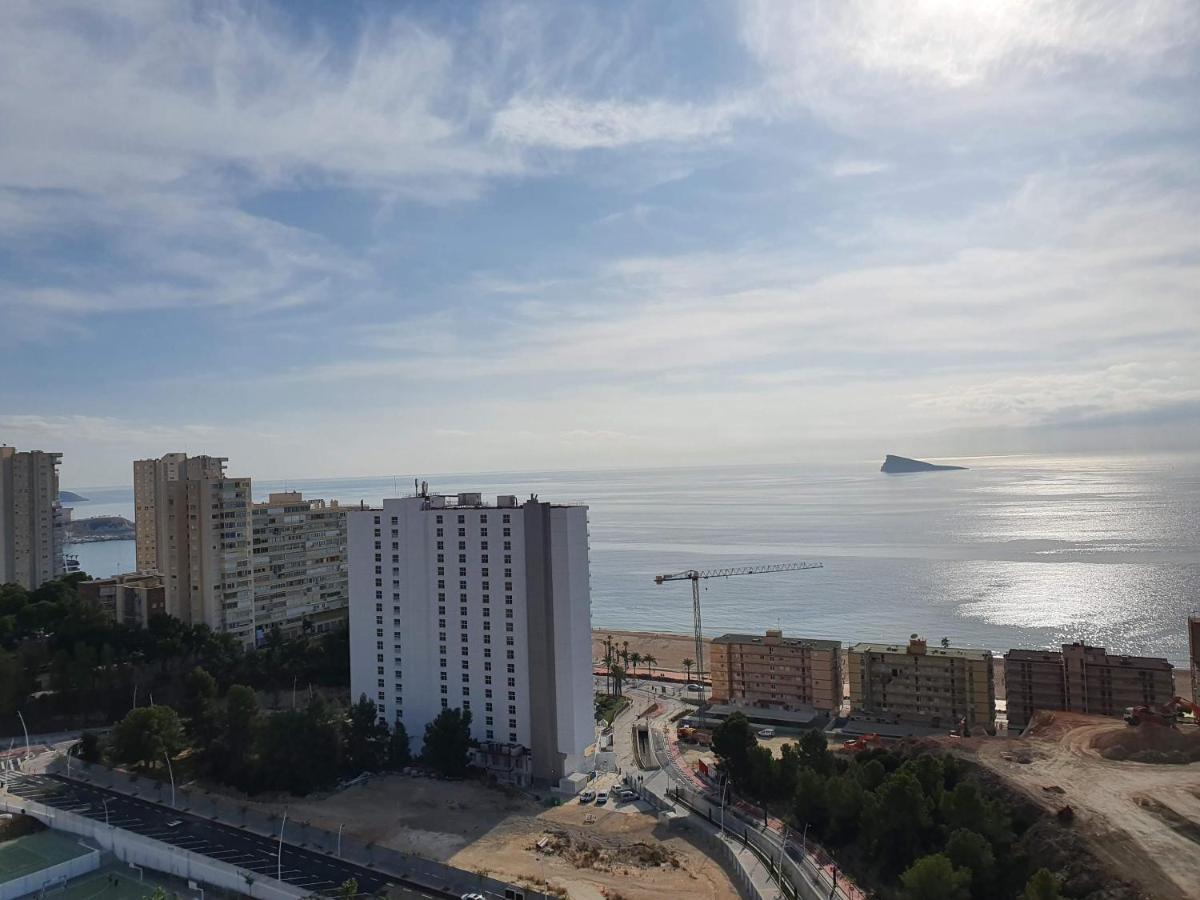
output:
[[[929,647],[913,635],[907,644],[857,643],[846,668],[856,714],[934,728],[996,719],[991,650]]]

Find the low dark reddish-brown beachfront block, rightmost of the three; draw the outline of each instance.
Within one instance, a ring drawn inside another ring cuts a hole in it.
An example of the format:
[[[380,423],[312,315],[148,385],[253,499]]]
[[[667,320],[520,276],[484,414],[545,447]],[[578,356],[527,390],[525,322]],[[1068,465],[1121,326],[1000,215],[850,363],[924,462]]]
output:
[[[1124,715],[1175,696],[1174,666],[1165,659],[1122,656],[1103,647],[1063,644],[1062,650],[1009,650],[1004,685],[1009,727],[1024,727],[1038,709]]]

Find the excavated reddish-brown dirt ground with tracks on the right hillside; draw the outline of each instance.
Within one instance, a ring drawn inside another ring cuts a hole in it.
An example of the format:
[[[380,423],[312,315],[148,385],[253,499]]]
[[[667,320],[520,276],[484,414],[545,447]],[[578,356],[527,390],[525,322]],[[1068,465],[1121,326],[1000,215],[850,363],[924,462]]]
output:
[[[1039,713],[1026,734],[958,744],[1044,809],[1069,805],[1093,852],[1123,878],[1160,900],[1200,898],[1200,763],[1105,760],[1102,750],[1200,742],[1160,726],[1120,719]]]

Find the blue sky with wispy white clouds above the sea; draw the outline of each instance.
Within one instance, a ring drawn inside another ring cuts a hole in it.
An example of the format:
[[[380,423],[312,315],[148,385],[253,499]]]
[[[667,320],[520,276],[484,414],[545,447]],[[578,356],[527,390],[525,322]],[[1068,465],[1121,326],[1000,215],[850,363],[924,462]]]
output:
[[[1200,445],[1200,4],[0,8],[66,486]]]

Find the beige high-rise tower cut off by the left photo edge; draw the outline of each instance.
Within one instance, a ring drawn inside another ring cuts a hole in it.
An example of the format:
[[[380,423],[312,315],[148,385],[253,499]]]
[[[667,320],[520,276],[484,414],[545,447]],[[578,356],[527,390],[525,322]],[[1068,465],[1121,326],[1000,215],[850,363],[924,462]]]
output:
[[[34,590],[62,575],[62,454],[0,446],[0,584]]]

